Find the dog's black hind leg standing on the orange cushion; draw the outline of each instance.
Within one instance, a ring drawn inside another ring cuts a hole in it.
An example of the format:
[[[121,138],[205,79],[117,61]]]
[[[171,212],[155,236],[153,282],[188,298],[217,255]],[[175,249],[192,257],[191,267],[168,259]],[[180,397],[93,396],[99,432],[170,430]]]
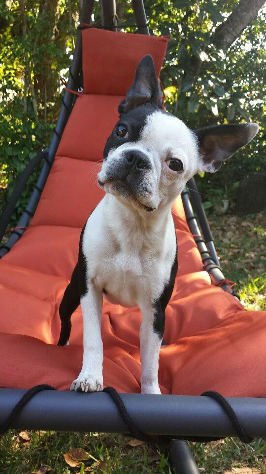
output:
[[[69,285],[66,287],[63,299],[59,307],[61,319],[60,338],[58,346],[66,346],[71,331],[71,316],[80,304],[78,264],[75,266]]]

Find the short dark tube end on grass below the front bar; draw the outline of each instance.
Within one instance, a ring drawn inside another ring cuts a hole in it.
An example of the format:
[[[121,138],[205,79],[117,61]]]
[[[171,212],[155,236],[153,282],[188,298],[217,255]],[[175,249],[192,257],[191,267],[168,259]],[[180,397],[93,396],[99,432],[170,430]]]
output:
[[[183,439],[176,439],[171,442],[169,455],[175,474],[199,474],[191,449]]]

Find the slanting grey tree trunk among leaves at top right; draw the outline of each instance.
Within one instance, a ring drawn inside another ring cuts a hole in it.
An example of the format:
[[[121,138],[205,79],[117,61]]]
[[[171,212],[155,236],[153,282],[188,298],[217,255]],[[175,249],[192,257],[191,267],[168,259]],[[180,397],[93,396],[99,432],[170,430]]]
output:
[[[227,51],[242,31],[258,14],[265,4],[265,0],[240,0],[226,21],[219,25],[213,36],[212,42],[218,49]]]

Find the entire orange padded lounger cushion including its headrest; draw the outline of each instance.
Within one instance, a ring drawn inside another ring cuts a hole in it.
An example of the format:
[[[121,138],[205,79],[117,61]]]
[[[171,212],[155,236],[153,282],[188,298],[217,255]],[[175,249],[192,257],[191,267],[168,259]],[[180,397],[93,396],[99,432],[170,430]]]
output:
[[[83,43],[85,94],[68,120],[30,229],[0,261],[0,387],[68,389],[80,371],[81,310],[72,316],[70,345],[58,347],[59,304],[81,228],[103,195],[97,170],[117,105],[139,58],[151,52],[159,72],[166,46],[161,38],[98,30],[84,31]],[[246,312],[211,284],[180,197],[172,211],[179,269],[159,361],[163,393],[266,396],[265,314]],[[104,383],[121,392],[140,390],[140,322],[137,308],[103,305]]]

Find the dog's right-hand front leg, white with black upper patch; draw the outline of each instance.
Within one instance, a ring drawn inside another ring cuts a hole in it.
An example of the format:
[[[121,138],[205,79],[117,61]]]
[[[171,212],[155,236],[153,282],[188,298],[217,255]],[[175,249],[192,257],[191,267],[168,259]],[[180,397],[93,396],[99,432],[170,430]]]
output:
[[[165,329],[165,312],[152,306],[140,308],[141,393],[161,394],[158,384],[159,352]]]

